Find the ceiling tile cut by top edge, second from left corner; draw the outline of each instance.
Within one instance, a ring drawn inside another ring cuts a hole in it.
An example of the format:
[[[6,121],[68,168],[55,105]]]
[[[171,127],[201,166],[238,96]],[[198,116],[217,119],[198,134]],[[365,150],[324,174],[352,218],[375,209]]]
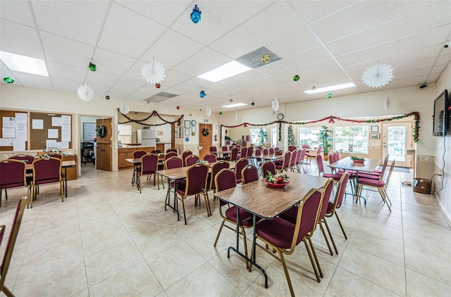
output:
[[[39,30],[95,45],[110,1],[30,1]]]

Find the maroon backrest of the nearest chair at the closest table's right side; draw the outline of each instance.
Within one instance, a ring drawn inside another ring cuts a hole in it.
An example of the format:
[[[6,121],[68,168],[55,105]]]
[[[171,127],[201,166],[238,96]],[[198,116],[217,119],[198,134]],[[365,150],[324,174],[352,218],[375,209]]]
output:
[[[323,196],[324,190],[311,189],[299,202],[291,248],[295,248],[304,236],[313,232],[316,228]]]

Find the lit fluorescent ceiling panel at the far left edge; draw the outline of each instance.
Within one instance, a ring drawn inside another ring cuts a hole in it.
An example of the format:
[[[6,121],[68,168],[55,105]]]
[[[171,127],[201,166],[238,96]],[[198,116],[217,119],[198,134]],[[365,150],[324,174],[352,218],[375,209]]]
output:
[[[33,75],[49,76],[42,59],[0,51],[0,59],[11,71],[25,72]]]

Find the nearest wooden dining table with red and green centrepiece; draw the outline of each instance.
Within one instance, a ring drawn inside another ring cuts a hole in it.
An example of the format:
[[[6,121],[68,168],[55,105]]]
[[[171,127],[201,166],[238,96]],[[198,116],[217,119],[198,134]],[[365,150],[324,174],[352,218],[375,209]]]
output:
[[[268,187],[263,179],[257,182],[249,182],[248,184],[238,185],[231,189],[218,191],[214,196],[221,201],[230,203],[237,208],[242,208],[248,213],[252,213],[254,226],[257,223],[257,217],[265,220],[271,220],[280,215],[280,213],[295,206],[311,189],[320,189],[326,184],[325,177],[316,177],[313,175],[299,175],[299,173],[287,172],[290,184],[284,188]],[[230,250],[235,251],[242,258],[257,267],[265,277],[265,288],[268,288],[268,276],[263,267],[257,264],[255,258],[255,238],[257,236],[254,227],[254,240],[252,244],[253,255],[251,259],[240,252],[240,211],[237,211],[237,228],[236,228],[236,247],[228,248],[227,257],[230,258]],[[254,260],[252,260],[254,259]]]

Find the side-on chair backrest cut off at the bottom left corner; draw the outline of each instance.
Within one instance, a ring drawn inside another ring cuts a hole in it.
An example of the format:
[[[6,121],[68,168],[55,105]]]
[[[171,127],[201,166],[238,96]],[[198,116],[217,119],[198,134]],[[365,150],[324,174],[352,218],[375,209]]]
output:
[[[26,197],[21,198],[16,207],[16,214],[14,215],[13,224],[11,225],[11,232],[9,232],[8,243],[6,244],[3,260],[0,263],[0,289],[4,289],[6,274],[8,273],[9,263],[11,263],[14,246],[16,245],[16,239],[19,233],[20,223],[22,222],[26,201]]]

